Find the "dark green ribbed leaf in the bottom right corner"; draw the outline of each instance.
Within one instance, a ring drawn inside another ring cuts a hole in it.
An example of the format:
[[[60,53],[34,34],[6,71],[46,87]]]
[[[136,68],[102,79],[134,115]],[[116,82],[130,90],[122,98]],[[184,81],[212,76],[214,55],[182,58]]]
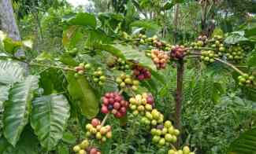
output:
[[[253,154],[256,151],[256,129],[240,134],[239,138],[232,142],[229,152],[233,154]]]

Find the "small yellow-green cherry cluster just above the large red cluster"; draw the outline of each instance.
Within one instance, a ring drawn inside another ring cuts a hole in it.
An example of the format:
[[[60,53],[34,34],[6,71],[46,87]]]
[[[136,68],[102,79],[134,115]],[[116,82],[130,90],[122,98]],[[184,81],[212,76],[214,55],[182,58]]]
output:
[[[121,89],[132,88],[132,90],[138,90],[139,80],[133,79],[131,75],[121,74],[117,77],[116,82]]]

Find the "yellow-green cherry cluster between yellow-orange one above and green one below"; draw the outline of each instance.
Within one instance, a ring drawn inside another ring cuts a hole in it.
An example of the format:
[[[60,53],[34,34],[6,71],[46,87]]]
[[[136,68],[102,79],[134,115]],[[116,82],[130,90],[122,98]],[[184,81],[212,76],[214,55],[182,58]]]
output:
[[[157,109],[146,111],[145,115],[141,117],[140,122],[146,126],[157,126],[163,123],[164,116]]]

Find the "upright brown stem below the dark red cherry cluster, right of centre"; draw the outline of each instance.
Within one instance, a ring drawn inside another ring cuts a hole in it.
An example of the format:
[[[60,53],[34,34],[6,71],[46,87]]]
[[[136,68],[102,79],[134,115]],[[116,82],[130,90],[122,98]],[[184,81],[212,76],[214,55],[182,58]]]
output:
[[[182,86],[183,86],[183,77],[184,77],[184,61],[178,61],[177,66],[177,87],[176,87],[176,108],[175,108],[175,125],[176,129],[180,130],[181,132],[181,116],[182,116]],[[180,138],[176,141],[176,148],[180,146]]]

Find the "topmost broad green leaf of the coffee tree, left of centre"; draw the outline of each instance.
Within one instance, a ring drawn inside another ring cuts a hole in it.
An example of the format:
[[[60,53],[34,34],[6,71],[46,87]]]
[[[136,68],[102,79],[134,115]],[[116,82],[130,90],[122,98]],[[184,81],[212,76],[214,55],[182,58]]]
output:
[[[71,25],[88,26],[92,28],[97,26],[97,20],[91,13],[77,13],[73,16],[69,16],[65,21]]]

